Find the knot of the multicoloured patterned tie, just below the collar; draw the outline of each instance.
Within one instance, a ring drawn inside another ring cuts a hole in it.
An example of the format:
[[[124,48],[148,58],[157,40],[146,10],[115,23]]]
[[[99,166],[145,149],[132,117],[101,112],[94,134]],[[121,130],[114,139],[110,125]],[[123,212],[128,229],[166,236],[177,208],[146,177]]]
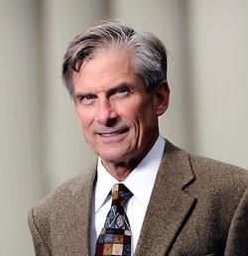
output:
[[[116,184],[113,186],[111,196],[112,205],[124,206],[128,199],[133,195],[124,184]]]

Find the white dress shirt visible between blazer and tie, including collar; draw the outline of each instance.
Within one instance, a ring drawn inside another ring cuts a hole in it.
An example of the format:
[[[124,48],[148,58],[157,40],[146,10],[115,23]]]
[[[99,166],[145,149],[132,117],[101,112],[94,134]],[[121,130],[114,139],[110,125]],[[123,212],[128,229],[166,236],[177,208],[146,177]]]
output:
[[[132,255],[140,236],[141,227],[153,191],[164,148],[165,140],[159,136],[151,151],[123,182],[128,190],[133,193],[133,196],[125,206],[132,230]],[[97,237],[111,207],[111,196],[109,192],[112,187],[118,183],[119,182],[106,171],[99,158],[97,164],[97,180],[92,193],[90,232],[90,255],[92,256],[94,255]]]

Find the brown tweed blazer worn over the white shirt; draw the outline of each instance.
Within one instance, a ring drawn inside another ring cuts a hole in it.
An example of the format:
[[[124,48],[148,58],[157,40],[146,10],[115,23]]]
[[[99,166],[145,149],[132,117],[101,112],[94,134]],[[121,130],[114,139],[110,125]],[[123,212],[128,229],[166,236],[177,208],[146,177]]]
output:
[[[29,214],[36,255],[88,256],[95,170]],[[248,173],[167,142],[136,256],[248,256]]]

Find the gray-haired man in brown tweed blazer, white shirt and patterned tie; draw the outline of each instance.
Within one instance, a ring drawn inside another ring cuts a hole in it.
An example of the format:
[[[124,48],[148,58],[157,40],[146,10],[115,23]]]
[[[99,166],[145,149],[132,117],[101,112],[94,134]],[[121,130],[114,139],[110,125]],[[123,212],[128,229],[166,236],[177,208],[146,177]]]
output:
[[[102,23],[71,42],[62,77],[99,159],[33,207],[37,255],[248,255],[246,171],[160,136],[170,89],[159,39]]]

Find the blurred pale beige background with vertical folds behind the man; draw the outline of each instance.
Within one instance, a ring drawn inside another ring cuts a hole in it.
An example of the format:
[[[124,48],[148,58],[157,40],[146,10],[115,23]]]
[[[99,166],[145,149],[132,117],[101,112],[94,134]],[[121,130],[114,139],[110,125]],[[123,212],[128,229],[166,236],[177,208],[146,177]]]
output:
[[[162,134],[248,169],[247,0],[0,0],[0,255],[34,255],[31,206],[91,166],[63,88],[68,42],[118,18],[169,50]]]

